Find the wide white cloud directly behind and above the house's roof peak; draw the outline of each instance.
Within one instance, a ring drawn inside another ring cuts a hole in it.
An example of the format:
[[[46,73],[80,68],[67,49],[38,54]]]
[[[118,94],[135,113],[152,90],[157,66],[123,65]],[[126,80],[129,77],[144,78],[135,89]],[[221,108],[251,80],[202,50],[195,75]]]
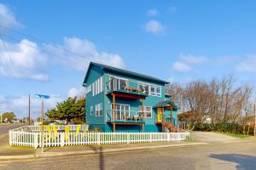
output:
[[[125,62],[119,54],[100,52],[96,49],[96,45],[88,40],[82,40],[78,37],[65,37],[64,44],[57,46],[60,48],[48,45],[46,49],[55,56],[61,56],[61,59],[56,59],[61,60],[63,64],[79,71],[86,71],[90,61],[125,68]],[[68,53],[63,48],[75,54]]]

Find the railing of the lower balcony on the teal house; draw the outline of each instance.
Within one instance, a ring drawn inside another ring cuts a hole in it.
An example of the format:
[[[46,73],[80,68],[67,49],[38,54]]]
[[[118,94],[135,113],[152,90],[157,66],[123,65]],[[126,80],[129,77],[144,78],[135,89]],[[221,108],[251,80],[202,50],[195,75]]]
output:
[[[106,122],[144,122],[142,112],[138,111],[106,111]]]

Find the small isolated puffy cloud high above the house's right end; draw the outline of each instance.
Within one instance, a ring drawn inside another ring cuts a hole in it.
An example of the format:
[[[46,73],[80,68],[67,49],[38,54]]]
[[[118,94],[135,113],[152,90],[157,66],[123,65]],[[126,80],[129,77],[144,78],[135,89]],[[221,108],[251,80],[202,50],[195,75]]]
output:
[[[158,20],[149,20],[145,25],[145,30],[157,35],[166,31],[166,28]]]

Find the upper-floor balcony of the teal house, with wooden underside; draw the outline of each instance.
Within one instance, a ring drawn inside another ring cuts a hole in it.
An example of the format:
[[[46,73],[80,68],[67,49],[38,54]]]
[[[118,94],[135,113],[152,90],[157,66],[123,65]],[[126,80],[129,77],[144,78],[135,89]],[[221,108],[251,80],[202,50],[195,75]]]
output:
[[[128,99],[145,99],[149,90],[148,85],[115,77],[110,77],[105,87],[107,95],[115,94]]]

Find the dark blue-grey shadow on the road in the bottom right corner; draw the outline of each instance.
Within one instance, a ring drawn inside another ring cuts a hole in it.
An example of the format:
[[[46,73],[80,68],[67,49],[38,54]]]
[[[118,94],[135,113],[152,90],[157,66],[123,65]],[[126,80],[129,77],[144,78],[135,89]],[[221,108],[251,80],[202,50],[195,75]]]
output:
[[[234,162],[238,170],[251,170],[256,167],[256,156],[247,156],[241,154],[212,154],[210,157],[222,161]]]

